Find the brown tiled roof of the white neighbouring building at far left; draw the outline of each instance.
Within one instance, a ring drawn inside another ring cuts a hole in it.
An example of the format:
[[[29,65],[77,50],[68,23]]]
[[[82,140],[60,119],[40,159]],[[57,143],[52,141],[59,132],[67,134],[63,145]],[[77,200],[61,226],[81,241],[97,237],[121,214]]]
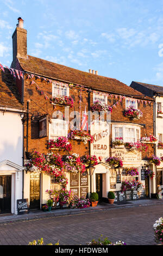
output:
[[[23,109],[14,78],[8,69],[0,71],[0,106]]]

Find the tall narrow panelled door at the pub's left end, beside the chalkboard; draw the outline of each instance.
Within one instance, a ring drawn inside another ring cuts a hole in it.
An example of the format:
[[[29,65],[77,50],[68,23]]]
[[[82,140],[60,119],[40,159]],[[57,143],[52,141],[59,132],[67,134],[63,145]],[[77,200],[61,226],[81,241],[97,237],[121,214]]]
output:
[[[30,175],[30,210],[40,209],[40,174]]]

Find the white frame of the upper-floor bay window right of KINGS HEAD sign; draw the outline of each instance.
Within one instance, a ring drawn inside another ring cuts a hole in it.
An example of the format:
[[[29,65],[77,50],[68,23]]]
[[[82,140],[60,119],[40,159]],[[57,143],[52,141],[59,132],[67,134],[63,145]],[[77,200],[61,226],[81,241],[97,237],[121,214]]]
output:
[[[126,138],[126,128],[134,129],[134,139],[137,142],[137,130],[139,130],[139,136],[141,137],[141,127],[140,125],[128,125],[128,124],[112,124],[112,141],[115,141],[115,128],[122,128],[123,131],[123,142],[130,142]]]

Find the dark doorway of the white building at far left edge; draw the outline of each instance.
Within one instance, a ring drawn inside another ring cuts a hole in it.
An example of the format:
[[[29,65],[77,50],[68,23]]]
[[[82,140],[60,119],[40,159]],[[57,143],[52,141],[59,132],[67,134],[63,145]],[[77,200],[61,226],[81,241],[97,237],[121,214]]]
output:
[[[11,212],[11,175],[0,176],[0,214]]]

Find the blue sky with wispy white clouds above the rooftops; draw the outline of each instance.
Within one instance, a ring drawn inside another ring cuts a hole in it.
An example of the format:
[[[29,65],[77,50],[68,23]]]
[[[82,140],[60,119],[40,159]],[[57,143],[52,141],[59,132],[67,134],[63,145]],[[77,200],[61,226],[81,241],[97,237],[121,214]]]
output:
[[[101,76],[163,86],[163,0],[0,0],[0,63],[17,18],[29,55]]]

